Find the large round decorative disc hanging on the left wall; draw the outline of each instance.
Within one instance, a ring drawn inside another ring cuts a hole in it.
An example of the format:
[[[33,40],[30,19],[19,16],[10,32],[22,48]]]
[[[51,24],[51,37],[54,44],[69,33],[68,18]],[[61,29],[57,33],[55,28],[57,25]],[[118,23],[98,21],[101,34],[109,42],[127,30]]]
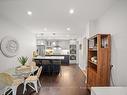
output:
[[[1,41],[1,51],[6,57],[14,57],[19,50],[19,44],[13,37],[6,36]]]

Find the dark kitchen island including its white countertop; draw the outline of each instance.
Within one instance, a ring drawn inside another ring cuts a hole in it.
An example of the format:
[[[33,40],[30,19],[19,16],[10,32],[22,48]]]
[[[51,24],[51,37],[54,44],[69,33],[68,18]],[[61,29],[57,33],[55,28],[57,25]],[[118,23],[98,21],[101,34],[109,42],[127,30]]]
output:
[[[37,56],[33,60],[37,66],[43,67],[44,74],[59,74],[61,70],[61,60],[64,60],[64,56]]]

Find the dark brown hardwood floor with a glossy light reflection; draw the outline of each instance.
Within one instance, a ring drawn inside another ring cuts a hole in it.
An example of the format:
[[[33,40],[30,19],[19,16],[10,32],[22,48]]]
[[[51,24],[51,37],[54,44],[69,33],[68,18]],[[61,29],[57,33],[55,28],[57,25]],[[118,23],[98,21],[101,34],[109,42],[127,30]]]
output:
[[[76,65],[62,66],[61,74],[40,78],[42,87],[36,93],[27,87],[25,95],[90,95],[85,87],[85,76]],[[23,85],[18,88],[17,95],[22,95]]]

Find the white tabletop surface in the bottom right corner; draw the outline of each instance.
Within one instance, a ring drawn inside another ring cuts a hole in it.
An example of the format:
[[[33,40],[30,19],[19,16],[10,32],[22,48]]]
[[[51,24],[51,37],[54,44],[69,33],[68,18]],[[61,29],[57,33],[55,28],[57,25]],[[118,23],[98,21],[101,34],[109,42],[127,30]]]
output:
[[[127,87],[92,87],[91,95],[127,95]]]

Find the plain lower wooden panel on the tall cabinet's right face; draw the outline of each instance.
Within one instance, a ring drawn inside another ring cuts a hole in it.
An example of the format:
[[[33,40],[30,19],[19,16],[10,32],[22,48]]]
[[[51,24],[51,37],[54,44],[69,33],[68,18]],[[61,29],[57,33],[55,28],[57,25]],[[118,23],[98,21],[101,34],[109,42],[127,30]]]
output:
[[[100,86],[108,86],[109,84],[109,63],[108,63],[108,50],[100,49],[99,64],[98,64],[98,84]]]

